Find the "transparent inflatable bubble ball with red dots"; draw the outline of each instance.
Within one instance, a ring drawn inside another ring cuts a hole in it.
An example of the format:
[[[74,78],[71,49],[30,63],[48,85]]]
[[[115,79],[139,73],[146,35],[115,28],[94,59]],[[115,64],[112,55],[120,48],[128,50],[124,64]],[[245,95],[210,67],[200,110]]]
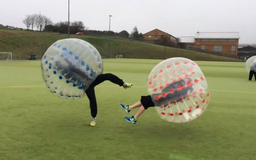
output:
[[[164,60],[150,72],[147,90],[158,115],[168,122],[184,123],[204,113],[210,102],[205,76],[187,58]]]

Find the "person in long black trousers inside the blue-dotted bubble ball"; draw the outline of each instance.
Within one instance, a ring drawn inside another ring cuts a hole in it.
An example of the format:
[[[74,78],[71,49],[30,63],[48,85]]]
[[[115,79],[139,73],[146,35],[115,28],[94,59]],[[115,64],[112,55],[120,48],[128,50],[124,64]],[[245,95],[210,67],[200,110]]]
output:
[[[69,61],[68,59],[65,59],[65,61],[68,63],[67,66],[64,67],[60,61],[56,61],[56,66],[60,70],[65,70],[65,72],[71,73],[65,76],[66,79],[71,79],[72,77],[76,77],[76,79],[84,79],[84,81],[87,81],[87,82],[91,81],[90,86],[87,86],[87,87],[84,86],[83,89],[87,88],[87,90],[84,89],[84,92],[86,93],[88,99],[90,100],[90,109],[91,109],[91,115],[92,115],[92,122],[90,123],[90,125],[94,127],[96,125],[96,116],[97,116],[97,100],[96,100],[95,90],[94,90],[95,86],[99,85],[100,83],[103,83],[104,81],[111,81],[111,83],[117,84],[118,86],[122,86],[124,87],[124,89],[127,89],[127,88],[131,88],[132,84],[125,83],[122,79],[110,73],[100,74],[93,81],[93,79],[91,79],[86,74],[84,74],[82,70],[80,70],[78,67],[73,65],[71,61]]]

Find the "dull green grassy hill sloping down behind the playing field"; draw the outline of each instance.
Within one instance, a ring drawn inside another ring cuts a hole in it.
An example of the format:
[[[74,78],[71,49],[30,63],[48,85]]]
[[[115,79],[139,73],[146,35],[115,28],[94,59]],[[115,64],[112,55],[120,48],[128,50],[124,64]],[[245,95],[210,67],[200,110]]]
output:
[[[0,29],[0,52],[12,52],[13,59],[28,59],[30,54],[36,54],[41,58],[46,49],[57,40],[67,38],[67,35],[56,33],[40,33],[36,31],[15,31]],[[100,52],[102,58],[108,58],[108,39],[94,36],[76,36],[94,45]],[[207,61],[239,61],[232,58],[214,56],[200,52],[187,51],[163,47],[160,45],[147,44],[129,40],[111,39],[110,55],[115,58],[116,54],[122,54],[124,58],[153,58],[166,59],[171,57],[185,57],[191,60]],[[0,55],[1,56],[1,55]],[[0,58],[4,59],[4,58]]]

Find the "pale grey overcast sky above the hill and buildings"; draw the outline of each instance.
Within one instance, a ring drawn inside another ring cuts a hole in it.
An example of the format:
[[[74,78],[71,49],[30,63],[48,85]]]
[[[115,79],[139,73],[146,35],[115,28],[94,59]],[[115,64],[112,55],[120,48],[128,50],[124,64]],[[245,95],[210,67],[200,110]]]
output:
[[[39,13],[53,22],[68,20],[68,0],[0,0],[0,24],[26,28],[22,19]],[[256,0],[70,0],[70,21],[89,29],[141,33],[160,29],[173,36],[196,31],[239,32],[240,44],[256,44]]]

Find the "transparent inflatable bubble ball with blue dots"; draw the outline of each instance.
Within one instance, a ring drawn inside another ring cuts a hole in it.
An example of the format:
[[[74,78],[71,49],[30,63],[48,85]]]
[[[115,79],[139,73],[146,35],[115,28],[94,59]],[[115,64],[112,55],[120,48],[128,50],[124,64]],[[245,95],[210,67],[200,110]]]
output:
[[[92,44],[76,38],[58,40],[45,52],[42,77],[49,90],[63,99],[80,99],[103,72],[102,58]]]

